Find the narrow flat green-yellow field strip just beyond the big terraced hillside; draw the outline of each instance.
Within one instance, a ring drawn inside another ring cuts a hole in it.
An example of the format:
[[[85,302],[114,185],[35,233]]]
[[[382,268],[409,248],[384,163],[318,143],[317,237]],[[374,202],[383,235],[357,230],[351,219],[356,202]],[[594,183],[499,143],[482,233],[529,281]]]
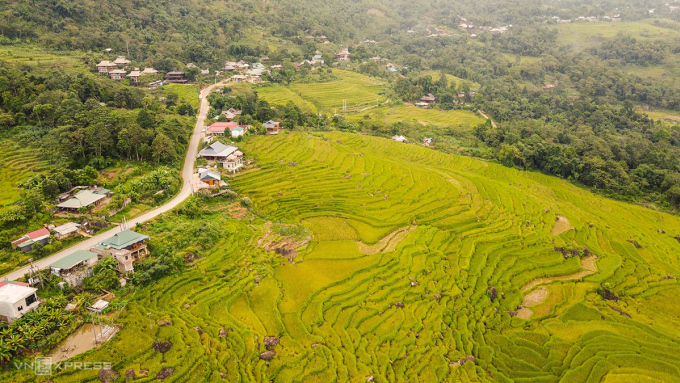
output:
[[[347,119],[351,121],[360,121],[365,115],[369,115],[373,119],[382,120],[387,123],[415,121],[423,125],[433,124],[437,126],[463,125],[472,127],[484,122],[482,118],[477,117],[477,115],[468,110],[422,109],[411,104],[389,108],[373,108],[363,113],[349,114],[347,115]]]

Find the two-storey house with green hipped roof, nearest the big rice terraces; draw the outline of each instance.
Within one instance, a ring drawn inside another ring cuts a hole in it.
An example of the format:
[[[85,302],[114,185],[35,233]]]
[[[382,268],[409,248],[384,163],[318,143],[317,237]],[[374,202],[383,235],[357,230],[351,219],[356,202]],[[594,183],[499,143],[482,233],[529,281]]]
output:
[[[118,272],[124,274],[134,272],[133,262],[149,253],[145,243],[148,239],[148,235],[126,229],[103,241],[92,250],[103,256],[112,256],[118,261]]]

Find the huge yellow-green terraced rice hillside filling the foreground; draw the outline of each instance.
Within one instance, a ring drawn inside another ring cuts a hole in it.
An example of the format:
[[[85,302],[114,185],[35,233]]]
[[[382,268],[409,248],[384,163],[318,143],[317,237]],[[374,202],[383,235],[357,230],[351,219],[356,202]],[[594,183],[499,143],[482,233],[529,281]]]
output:
[[[262,218],[222,218],[228,239],[139,291],[117,338],[78,361],[145,381],[162,368],[177,382],[680,381],[680,218],[377,137],[242,147],[259,170],[231,184]],[[558,216],[573,229],[552,234]],[[311,241],[288,262],[263,249],[265,221]],[[150,331],[147,313],[172,324]],[[265,336],[281,339],[271,361]]]

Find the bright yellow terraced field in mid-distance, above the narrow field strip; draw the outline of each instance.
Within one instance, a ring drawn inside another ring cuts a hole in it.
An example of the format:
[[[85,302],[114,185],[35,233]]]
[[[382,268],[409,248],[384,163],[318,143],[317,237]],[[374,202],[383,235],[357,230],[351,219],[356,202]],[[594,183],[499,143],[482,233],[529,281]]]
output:
[[[383,90],[383,82],[359,73],[333,69],[339,80],[313,83],[293,84],[290,90],[315,105],[333,111],[342,108],[342,101],[347,100],[347,107],[373,106],[385,101],[379,95]]]

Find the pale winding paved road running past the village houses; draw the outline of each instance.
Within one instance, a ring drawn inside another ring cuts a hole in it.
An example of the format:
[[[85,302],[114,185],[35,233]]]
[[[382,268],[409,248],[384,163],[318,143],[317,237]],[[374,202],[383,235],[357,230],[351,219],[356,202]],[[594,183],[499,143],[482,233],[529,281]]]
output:
[[[187,149],[187,155],[184,158],[184,167],[182,168],[182,190],[180,190],[179,194],[175,196],[172,200],[170,200],[168,203],[165,205],[161,205],[153,210],[150,210],[142,215],[140,215],[137,218],[133,218],[128,221],[128,224],[130,226],[134,226],[138,223],[143,223],[146,222],[150,219],[153,219],[157,217],[160,214],[163,214],[167,211],[172,210],[175,208],[177,205],[179,205],[182,201],[187,199],[191,193],[192,193],[192,180],[193,180],[193,172],[194,172],[194,162],[196,162],[196,157],[198,156],[198,146],[199,143],[201,142],[201,133],[203,130],[203,124],[205,121],[205,117],[208,114],[208,94],[215,88],[216,86],[221,86],[223,85],[222,82],[219,82],[214,85],[210,85],[207,88],[201,90],[201,105],[199,108],[198,112],[198,117],[196,120],[196,126],[194,127],[194,133],[191,135],[191,141],[189,142],[189,148]],[[92,238],[88,238],[83,242],[80,242],[76,245],[73,245],[67,249],[64,249],[56,254],[53,254],[49,257],[40,259],[38,261],[33,262],[34,267],[37,267],[39,269],[44,269],[46,267],[49,267],[50,264],[54,263],[55,261],[58,261],[65,256],[73,253],[76,250],[89,250],[93,246],[96,246],[98,243],[102,242],[103,240],[111,237],[113,234],[116,233],[118,229],[114,228],[113,230],[109,230],[105,233],[95,235]],[[2,280],[16,280],[18,278],[23,277],[29,270],[29,266],[22,267],[20,269],[17,269],[11,273],[5,274],[2,277]]]

